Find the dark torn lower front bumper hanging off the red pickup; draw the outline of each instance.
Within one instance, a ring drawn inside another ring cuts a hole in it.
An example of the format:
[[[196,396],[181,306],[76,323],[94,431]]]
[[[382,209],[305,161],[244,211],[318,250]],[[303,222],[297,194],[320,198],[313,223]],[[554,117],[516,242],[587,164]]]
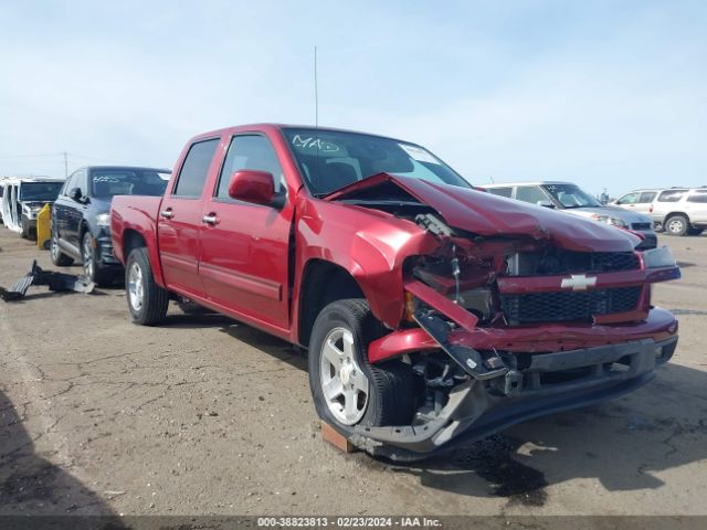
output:
[[[675,352],[677,336],[556,353],[509,353],[524,369],[469,379],[420,426],[355,427],[350,441],[374,455],[415,460],[545,414],[610,400],[645,384]],[[528,359],[529,358],[529,359]]]

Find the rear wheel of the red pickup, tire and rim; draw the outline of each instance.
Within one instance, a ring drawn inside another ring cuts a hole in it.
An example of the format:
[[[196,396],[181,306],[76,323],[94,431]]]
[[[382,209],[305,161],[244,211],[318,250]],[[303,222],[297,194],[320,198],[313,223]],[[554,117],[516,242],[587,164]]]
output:
[[[147,248],[134,248],[125,266],[125,290],[135,324],[154,326],[165,319],[169,293],[155,282]]]

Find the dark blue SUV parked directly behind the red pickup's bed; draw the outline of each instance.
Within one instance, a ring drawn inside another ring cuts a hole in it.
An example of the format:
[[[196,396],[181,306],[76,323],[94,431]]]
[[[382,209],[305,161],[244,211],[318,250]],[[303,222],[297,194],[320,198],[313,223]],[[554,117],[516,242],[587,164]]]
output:
[[[85,276],[97,285],[123,274],[113,255],[110,201],[115,195],[161,195],[168,169],[94,166],[74,171],[52,208],[51,254],[54,265],[83,263]]]

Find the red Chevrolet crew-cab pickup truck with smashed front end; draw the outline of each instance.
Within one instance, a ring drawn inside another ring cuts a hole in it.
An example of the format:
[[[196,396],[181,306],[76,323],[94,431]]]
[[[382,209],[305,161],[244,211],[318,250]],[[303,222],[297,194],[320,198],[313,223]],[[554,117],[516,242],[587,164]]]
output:
[[[654,377],[666,247],[475,190],[424,148],[250,125],[183,149],[163,198],[116,197],[133,320],[188,299],[308,350],[318,415],[414,459]]]

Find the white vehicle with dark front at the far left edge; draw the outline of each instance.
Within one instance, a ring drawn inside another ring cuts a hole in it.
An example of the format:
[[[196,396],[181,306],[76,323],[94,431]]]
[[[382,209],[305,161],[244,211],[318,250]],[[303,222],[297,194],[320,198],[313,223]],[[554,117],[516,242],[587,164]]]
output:
[[[35,236],[38,213],[54,202],[63,184],[63,179],[50,177],[3,179],[0,182],[2,223],[22,237]]]

